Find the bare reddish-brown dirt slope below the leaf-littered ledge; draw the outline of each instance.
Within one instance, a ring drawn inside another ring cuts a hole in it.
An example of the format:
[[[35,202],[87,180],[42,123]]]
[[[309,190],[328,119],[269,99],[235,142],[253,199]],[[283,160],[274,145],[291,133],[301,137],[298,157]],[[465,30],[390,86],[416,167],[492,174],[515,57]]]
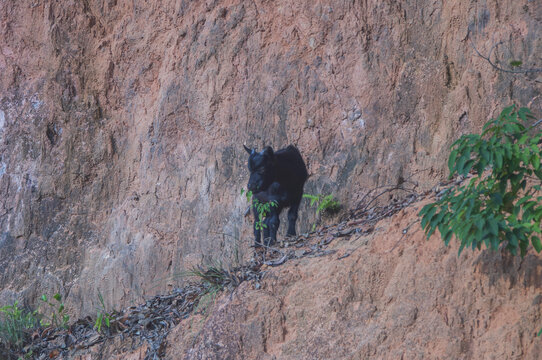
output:
[[[279,249],[290,252],[288,261],[263,266],[260,280],[200,307],[166,341],[117,336],[72,357],[538,359],[542,260],[486,250],[457,257],[455,244],[425,240],[417,222],[425,203]],[[149,344],[157,346],[151,351]]]

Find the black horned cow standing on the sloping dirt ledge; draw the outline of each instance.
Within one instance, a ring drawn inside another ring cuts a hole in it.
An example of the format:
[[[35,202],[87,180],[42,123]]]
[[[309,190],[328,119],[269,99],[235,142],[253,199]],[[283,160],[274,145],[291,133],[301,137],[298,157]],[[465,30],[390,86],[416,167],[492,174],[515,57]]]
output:
[[[303,185],[307,180],[308,173],[305,162],[299,150],[293,145],[276,152],[270,146],[263,151],[256,152],[244,146],[250,154],[248,158],[248,190],[252,191],[254,199],[262,203],[276,201],[277,206],[271,206],[269,213],[264,220],[264,241],[266,245],[277,241],[277,230],[279,228],[279,215],[285,207],[288,210],[288,236],[295,236],[295,223],[299,204],[303,197]],[[253,204],[254,205],[254,204]],[[258,213],[254,210],[254,241],[255,245],[261,245],[261,231],[256,226]]]

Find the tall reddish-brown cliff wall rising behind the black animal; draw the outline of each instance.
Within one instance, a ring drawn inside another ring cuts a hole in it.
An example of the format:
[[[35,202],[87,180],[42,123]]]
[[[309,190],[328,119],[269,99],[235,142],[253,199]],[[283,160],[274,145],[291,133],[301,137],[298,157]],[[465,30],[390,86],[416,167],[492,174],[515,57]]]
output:
[[[243,143],[296,144],[306,192],[348,207],[418,170],[429,186],[460,133],[542,103],[539,73],[471,47],[540,67],[536,1],[3,1],[0,19],[0,302],[60,291],[74,315],[249,253]]]

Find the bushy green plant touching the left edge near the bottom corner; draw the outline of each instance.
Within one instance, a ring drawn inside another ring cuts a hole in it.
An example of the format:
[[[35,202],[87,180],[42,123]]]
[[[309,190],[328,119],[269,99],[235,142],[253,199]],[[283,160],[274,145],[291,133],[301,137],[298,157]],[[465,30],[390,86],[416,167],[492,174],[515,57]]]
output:
[[[20,309],[17,301],[0,307],[0,314],[0,342],[7,349],[20,348],[38,325],[37,311]]]

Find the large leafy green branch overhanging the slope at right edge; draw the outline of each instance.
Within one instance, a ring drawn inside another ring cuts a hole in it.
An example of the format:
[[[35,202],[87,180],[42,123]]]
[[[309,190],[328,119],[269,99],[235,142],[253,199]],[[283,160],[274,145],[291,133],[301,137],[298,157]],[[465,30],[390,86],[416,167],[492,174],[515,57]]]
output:
[[[461,242],[459,254],[482,244],[497,250],[501,243],[514,255],[519,249],[524,256],[529,243],[542,250],[542,196],[536,196],[542,180],[542,133],[530,134],[532,127],[525,123],[532,118],[529,109],[509,106],[484,125],[481,135],[464,135],[452,144],[450,178],[471,171],[474,176],[422,208],[427,238],[438,229],[448,245],[455,235]]]

